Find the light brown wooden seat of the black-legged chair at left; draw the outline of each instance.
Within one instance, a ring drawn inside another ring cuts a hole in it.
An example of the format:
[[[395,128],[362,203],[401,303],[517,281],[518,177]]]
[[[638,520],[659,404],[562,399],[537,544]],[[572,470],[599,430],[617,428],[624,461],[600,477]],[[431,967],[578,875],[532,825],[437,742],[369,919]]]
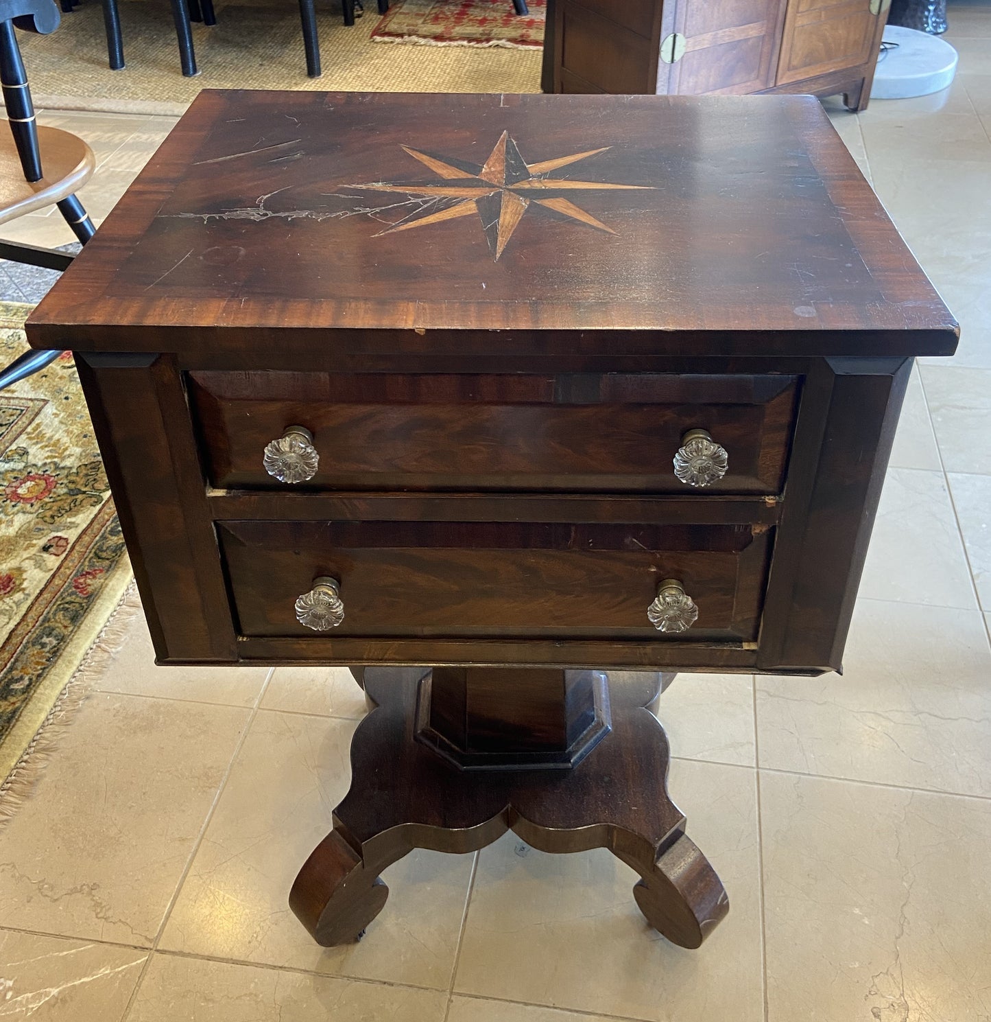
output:
[[[13,138],[0,132],[0,224],[75,194],[96,170],[93,150],[67,131],[39,127],[38,145],[45,176],[25,181]]]

